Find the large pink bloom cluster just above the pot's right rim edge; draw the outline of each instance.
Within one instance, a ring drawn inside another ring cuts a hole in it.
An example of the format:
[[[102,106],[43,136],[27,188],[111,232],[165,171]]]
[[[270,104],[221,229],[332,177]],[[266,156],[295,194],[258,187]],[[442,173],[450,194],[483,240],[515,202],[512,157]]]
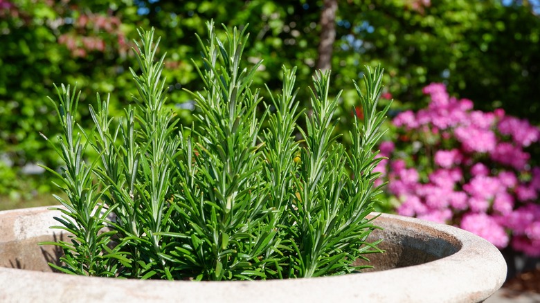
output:
[[[465,214],[460,228],[483,237],[498,248],[505,248],[508,245],[509,238],[505,229],[487,214]]]

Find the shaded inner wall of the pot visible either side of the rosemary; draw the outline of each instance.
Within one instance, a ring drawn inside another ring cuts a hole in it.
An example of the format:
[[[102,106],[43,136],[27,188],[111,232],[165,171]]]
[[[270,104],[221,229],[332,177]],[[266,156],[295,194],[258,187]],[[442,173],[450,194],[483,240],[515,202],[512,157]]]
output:
[[[2,216],[0,228],[11,229],[12,232],[0,237],[1,267],[50,272],[53,270],[48,266],[48,262],[60,265],[59,259],[63,255],[61,248],[52,245],[38,246],[37,243],[69,239],[60,230],[48,229],[48,226],[56,225],[55,221],[35,221],[43,217],[43,214],[37,217]],[[50,213],[48,217],[51,218]],[[374,230],[368,241],[382,239],[379,248],[385,252],[366,255],[369,262],[357,260],[357,264],[373,266],[364,269],[365,272],[424,264],[453,255],[461,248],[460,241],[455,237],[417,222],[388,215],[379,217],[374,222],[383,229]]]

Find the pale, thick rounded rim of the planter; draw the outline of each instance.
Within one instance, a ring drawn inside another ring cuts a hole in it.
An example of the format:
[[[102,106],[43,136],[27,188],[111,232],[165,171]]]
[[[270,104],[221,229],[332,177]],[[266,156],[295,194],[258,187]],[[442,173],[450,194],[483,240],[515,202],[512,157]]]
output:
[[[54,212],[48,207],[7,210],[6,214]],[[304,279],[271,279],[255,282],[190,282],[82,277],[62,273],[0,267],[0,301],[44,300],[68,302],[480,302],[500,288],[506,277],[501,252],[471,232],[395,214],[381,214],[376,226],[386,222],[407,228],[431,230],[456,239],[457,252],[424,264],[368,273]],[[31,237],[24,226],[14,224],[20,237]],[[26,232],[26,234],[25,234]],[[44,231],[51,234],[51,230]],[[3,232],[4,233],[4,232]],[[6,234],[6,233],[4,233]],[[10,232],[7,232],[8,236]],[[6,241],[0,236],[0,243]],[[0,251],[1,252],[1,251]]]

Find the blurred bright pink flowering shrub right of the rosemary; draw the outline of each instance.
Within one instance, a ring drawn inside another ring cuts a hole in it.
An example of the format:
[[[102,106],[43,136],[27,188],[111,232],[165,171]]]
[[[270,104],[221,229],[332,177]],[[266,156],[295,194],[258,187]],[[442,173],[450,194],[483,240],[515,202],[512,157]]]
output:
[[[397,212],[449,223],[490,241],[540,255],[540,167],[527,147],[540,129],[527,120],[474,111],[444,84],[424,88],[431,102],[393,119],[397,139],[381,143],[377,172]],[[381,181],[380,181],[381,182]]]

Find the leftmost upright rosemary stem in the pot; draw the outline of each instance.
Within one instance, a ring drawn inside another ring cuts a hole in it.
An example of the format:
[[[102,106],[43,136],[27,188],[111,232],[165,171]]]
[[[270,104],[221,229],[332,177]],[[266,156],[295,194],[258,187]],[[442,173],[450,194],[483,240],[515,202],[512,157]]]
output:
[[[109,251],[105,249],[111,241],[111,235],[114,235],[115,232],[102,231],[106,227],[107,217],[114,210],[114,207],[103,209],[104,205],[100,203],[102,193],[99,184],[93,182],[93,170],[96,163],[87,164],[82,158],[89,141],[83,141],[82,134],[84,132],[76,135],[74,133],[75,117],[73,113],[77,112],[80,93],[76,94],[75,89],[71,91],[69,86],[62,85],[61,89],[57,88],[57,95],[60,100],[60,104],[57,106],[57,115],[60,117],[64,136],[58,138],[59,146],[52,146],[64,160],[66,166],[62,167],[60,174],[53,169],[47,169],[62,178],[64,186],[57,186],[66,193],[69,199],[68,202],[60,196],[55,196],[57,201],[66,207],[66,209],[52,208],[62,212],[61,217],[55,218],[62,223],[62,226],[55,228],[65,230],[73,234],[73,237],[69,242],[48,243],[60,246],[64,251],[69,252],[61,259],[67,265],[66,267],[62,268],[55,264],[51,264],[51,266],[65,273],[114,276],[116,268],[109,268],[107,259],[110,257],[122,259],[122,256],[109,252],[110,249]],[[102,210],[104,211],[102,212]]]

